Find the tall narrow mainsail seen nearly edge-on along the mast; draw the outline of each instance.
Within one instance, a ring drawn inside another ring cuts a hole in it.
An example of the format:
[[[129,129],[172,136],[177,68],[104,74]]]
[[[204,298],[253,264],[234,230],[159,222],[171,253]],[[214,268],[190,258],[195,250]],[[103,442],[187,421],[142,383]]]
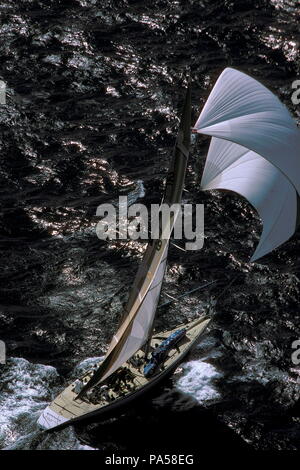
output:
[[[163,199],[163,203],[169,205],[181,203],[190,146],[190,101],[188,87]],[[175,220],[176,213],[171,213],[170,220],[161,228],[160,238],[148,244],[125,308],[126,316],[113,336],[103,362],[79,396],[108,378],[148,340],[166,268],[170,229]]]

